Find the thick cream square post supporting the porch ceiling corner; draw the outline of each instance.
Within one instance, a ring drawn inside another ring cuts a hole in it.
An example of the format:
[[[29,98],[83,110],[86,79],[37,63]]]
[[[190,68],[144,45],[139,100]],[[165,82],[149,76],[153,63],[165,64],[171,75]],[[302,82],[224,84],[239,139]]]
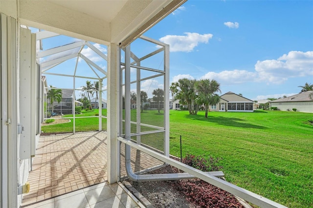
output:
[[[119,136],[119,47],[113,43],[108,45],[108,112],[107,112],[107,158],[108,182],[113,184],[119,180],[117,137]]]

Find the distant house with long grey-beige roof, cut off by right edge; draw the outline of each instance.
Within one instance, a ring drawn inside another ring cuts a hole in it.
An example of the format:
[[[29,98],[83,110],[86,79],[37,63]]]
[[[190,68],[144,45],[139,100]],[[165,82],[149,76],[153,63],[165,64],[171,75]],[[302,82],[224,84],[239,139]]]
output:
[[[287,98],[281,98],[270,102],[270,107],[277,107],[279,110],[290,110],[313,113],[313,91],[301,92]]]

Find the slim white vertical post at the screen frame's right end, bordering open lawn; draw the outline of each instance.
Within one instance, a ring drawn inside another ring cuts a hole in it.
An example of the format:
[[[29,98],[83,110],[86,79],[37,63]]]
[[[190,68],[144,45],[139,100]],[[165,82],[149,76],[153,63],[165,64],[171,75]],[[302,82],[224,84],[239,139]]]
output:
[[[164,50],[164,155],[170,156],[170,46]]]

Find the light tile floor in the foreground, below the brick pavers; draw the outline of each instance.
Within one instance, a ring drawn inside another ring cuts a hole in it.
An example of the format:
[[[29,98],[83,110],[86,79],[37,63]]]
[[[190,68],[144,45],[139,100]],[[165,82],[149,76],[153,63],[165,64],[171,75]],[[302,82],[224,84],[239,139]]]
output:
[[[106,182],[57,196],[27,208],[143,208],[121,183]]]

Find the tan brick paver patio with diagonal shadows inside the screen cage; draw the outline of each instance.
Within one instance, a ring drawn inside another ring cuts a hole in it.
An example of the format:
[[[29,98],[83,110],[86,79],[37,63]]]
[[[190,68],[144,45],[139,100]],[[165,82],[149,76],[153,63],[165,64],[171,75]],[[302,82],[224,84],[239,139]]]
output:
[[[83,132],[40,138],[28,182],[30,191],[23,195],[22,206],[46,200],[107,180],[107,134]],[[162,162],[132,149],[133,171]],[[121,145],[121,177],[126,176],[124,145]]]

